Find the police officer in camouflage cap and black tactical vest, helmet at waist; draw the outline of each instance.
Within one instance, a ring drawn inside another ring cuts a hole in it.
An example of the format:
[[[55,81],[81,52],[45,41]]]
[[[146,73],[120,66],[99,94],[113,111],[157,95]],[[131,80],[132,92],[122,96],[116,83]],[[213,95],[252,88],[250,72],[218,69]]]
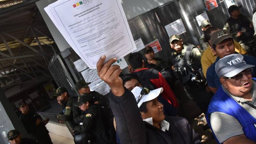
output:
[[[201,70],[200,51],[194,45],[183,44],[179,35],[171,36],[169,41],[174,50],[172,55],[174,75],[183,84],[188,97],[195,100],[206,113],[212,94],[204,89],[206,81]]]

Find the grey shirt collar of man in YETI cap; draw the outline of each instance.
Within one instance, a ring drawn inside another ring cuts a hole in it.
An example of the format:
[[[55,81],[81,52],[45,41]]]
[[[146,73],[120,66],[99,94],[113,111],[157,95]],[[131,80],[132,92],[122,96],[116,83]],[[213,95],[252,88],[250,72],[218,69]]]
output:
[[[244,99],[241,97],[236,97],[236,96],[232,95],[230,92],[228,92],[228,90],[224,86],[221,85],[221,87],[229,96],[231,96],[238,103],[250,101],[250,100],[247,100],[247,99]],[[252,93],[252,101],[254,101],[256,99],[256,82],[254,80],[252,80],[251,93]]]

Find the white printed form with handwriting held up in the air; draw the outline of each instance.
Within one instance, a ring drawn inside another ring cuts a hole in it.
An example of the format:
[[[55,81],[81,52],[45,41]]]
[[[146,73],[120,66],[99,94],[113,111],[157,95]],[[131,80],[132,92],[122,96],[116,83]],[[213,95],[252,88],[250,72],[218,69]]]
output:
[[[119,0],[59,0],[49,7],[89,68],[103,54],[120,59],[136,49]]]

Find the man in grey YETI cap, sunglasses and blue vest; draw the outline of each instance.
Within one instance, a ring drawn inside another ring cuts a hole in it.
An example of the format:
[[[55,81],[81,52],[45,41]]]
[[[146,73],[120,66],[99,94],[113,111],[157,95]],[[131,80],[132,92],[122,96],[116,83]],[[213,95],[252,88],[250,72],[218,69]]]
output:
[[[253,67],[241,54],[225,56],[215,65],[221,86],[210,102],[206,120],[219,143],[256,144]]]

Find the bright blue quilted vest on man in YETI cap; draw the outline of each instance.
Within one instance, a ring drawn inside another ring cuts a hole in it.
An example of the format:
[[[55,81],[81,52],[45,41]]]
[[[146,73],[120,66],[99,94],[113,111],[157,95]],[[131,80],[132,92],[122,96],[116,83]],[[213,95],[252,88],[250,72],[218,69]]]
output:
[[[252,79],[256,81],[256,78]],[[234,99],[232,99],[221,87],[218,88],[218,91],[213,96],[205,116],[211,130],[212,126],[210,123],[210,114],[213,112],[222,112],[235,117],[243,126],[243,131],[246,138],[256,142],[256,119],[243,107],[241,107]],[[220,143],[215,134],[214,137],[217,142]]]

